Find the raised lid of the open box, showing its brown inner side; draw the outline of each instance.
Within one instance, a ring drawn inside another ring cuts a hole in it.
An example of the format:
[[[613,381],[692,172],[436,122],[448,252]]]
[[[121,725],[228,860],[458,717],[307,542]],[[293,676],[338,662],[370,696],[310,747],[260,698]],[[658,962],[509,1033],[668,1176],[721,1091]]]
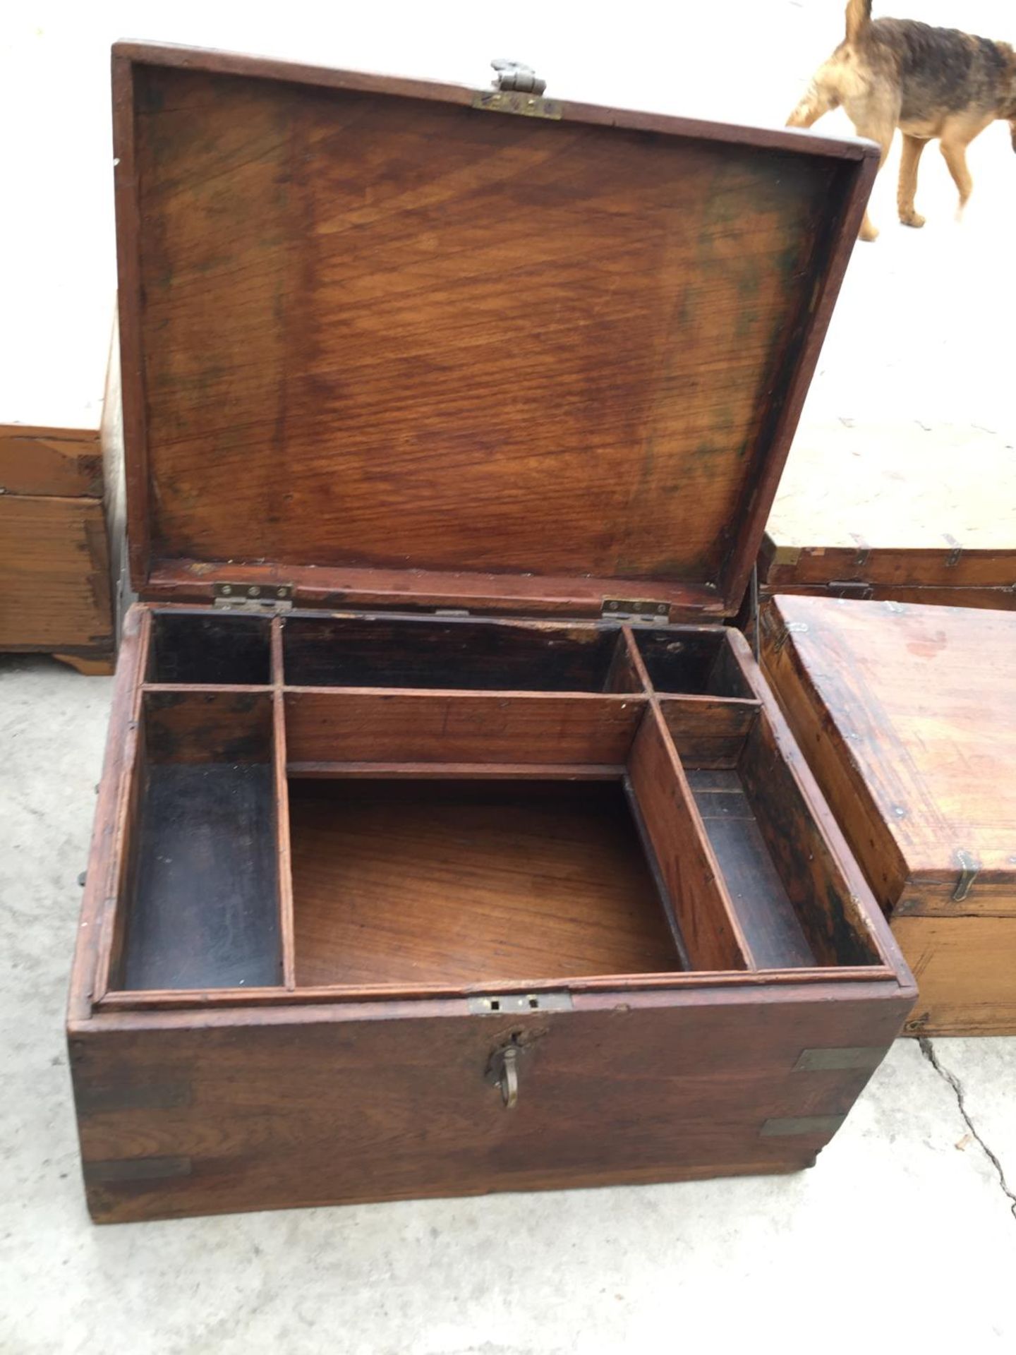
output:
[[[138,43],[114,102],[142,596],[737,608],[870,145]]]

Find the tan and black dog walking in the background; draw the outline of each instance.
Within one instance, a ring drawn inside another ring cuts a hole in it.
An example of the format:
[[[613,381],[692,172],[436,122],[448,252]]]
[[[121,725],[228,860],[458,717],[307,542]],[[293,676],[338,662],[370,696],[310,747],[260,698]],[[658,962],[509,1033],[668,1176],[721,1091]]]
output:
[[[882,148],[879,168],[895,129],[902,131],[897,203],[905,226],[924,225],[913,202],[917,165],[935,137],[959,190],[962,214],[973,187],[966,148],[974,137],[1001,118],[1009,123],[1016,150],[1016,51],[1007,42],[956,28],[872,19],[871,0],[848,0],[847,38],[818,68],[787,126],[810,127],[839,107],[858,136]],[[860,238],[876,236],[866,213]]]

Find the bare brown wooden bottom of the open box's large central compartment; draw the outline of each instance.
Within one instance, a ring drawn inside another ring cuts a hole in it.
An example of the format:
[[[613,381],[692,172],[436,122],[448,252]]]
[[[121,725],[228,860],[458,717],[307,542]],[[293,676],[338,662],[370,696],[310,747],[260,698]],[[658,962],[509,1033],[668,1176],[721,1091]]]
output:
[[[290,782],[297,982],[676,972],[619,782]]]

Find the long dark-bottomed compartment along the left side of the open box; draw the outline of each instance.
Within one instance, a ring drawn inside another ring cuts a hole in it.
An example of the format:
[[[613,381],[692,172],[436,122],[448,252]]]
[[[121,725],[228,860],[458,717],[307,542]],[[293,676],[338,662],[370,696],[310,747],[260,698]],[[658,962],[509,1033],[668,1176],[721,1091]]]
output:
[[[271,695],[146,692],[135,785],[112,986],[279,984]]]

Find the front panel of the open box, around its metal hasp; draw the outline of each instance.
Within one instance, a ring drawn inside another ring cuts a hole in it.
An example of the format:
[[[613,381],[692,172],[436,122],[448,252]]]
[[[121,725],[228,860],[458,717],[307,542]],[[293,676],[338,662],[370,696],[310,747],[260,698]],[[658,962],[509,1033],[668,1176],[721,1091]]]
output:
[[[909,996],[893,984],[847,996],[802,985],[574,1005],[516,1016],[465,1015],[458,1003],[427,1016],[393,1003],[73,1026],[92,1215],[794,1171],[839,1127]],[[490,1080],[509,1045],[511,1110]]]

